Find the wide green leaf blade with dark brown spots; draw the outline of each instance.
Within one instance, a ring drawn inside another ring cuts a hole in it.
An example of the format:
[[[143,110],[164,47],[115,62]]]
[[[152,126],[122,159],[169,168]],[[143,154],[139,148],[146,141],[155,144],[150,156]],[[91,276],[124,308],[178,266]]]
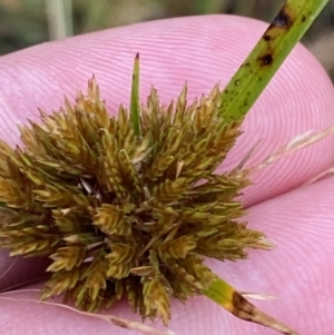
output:
[[[328,0],[287,0],[222,93],[220,114],[242,119]]]

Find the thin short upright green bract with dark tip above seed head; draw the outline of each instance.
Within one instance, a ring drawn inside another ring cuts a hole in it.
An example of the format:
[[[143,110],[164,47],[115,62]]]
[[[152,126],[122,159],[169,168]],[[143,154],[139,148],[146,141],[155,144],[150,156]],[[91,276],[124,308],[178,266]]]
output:
[[[140,105],[139,105],[139,53],[136,55],[132,73],[130,121],[135,136],[140,137]]]

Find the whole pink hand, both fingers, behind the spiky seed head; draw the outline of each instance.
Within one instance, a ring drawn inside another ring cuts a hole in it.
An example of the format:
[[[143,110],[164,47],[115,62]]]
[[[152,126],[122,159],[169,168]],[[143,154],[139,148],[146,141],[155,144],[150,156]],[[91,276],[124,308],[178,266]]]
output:
[[[57,110],[63,93],[73,101],[76,90],[86,90],[92,73],[110,114],[118,104],[128,106],[136,52],[140,52],[143,101],[154,83],[167,104],[179,93],[185,80],[191,101],[209,92],[219,80],[224,87],[265,28],[263,22],[232,16],[170,19],[4,56],[0,58],[1,138],[19,144],[18,124],[27,124],[27,118],[38,120],[37,107]],[[298,46],[247,115],[245,134],[220,170],[237,165],[259,139],[248,166],[259,164],[295,136],[333,124],[332,82],[315,58]],[[239,290],[277,296],[275,300],[255,303],[303,335],[334,334],[334,179],[299,187],[333,165],[334,138],[330,136],[255,174],[254,185],[243,197],[249,208],[249,227],[264,230],[277,247],[273,252],[250,250],[249,259],[244,262],[208,262]],[[0,273],[12,262],[1,252]],[[43,262],[19,258],[0,279],[0,288],[40,277],[43,266]],[[20,299],[38,295],[10,296]],[[203,297],[191,298],[185,306],[174,300],[171,312],[169,328],[179,335],[276,334],[238,321]],[[125,303],[110,313],[139,321]],[[161,327],[159,323],[156,326]],[[1,299],[1,295],[0,333],[136,334],[59,307],[10,302]]]

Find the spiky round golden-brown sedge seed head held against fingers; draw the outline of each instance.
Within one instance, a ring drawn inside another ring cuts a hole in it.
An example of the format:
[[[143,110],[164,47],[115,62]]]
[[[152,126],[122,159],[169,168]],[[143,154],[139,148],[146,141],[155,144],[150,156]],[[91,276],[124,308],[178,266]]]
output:
[[[96,80],[75,106],[20,127],[23,147],[0,141],[0,245],[49,257],[42,298],[66,294],[97,311],[127,297],[143,317],[170,318],[215,279],[204,257],[236,260],[264,235],[238,218],[248,185],[238,169],[215,173],[240,134],[218,116],[220,91],[163,107],[151,89],[140,138],[129,112],[109,117]]]

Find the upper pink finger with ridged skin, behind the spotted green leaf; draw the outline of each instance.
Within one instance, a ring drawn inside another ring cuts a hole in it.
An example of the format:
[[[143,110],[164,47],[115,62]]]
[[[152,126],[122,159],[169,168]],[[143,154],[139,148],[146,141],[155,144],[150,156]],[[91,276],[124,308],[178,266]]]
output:
[[[141,97],[154,83],[163,102],[189,85],[189,100],[226,85],[264,32],[259,21],[229,16],[173,19],[136,24],[45,43],[0,61],[2,138],[17,142],[17,124],[37,120],[37,107],[50,111],[62,105],[62,93],[73,98],[92,73],[110,112],[128,105],[132,60],[141,55]],[[298,46],[284,63],[244,124],[245,135],[225,168],[236,166],[261,139],[249,165],[308,130],[334,122],[334,92],[317,61]],[[282,159],[253,177],[245,203],[252,205],[301,185],[330,167],[334,151],[328,137],[312,148]],[[325,155],[323,152],[326,152]],[[293,167],[293,168],[292,168]]]

